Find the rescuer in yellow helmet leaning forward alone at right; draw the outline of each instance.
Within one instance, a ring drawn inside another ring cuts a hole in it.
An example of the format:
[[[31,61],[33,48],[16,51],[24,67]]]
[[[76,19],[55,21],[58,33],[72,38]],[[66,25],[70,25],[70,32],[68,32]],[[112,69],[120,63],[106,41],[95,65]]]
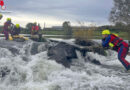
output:
[[[110,30],[102,31],[102,46],[111,47],[118,52],[118,59],[123,64],[126,70],[130,70],[130,63],[125,59],[129,51],[129,45],[118,35],[111,34]]]

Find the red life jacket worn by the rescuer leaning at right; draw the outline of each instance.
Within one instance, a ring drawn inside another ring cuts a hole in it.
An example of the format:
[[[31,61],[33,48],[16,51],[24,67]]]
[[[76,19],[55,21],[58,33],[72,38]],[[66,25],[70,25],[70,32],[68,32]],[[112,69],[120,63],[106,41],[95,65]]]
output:
[[[119,38],[118,36],[114,35],[114,34],[111,34],[111,39],[109,41],[109,46],[110,47],[119,47],[122,42],[123,42],[123,39],[122,38]]]

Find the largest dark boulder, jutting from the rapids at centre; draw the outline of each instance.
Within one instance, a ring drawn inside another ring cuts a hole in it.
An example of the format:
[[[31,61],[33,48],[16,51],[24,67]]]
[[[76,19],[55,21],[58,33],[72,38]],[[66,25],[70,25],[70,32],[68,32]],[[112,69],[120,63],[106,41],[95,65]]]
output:
[[[77,58],[75,47],[64,42],[50,47],[48,49],[48,56],[65,67],[70,67],[71,59]]]

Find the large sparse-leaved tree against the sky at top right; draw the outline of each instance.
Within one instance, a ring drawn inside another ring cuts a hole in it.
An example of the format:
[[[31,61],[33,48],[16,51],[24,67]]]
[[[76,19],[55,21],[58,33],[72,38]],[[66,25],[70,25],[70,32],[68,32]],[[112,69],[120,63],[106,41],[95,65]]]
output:
[[[114,0],[110,22],[130,25],[130,0]]]

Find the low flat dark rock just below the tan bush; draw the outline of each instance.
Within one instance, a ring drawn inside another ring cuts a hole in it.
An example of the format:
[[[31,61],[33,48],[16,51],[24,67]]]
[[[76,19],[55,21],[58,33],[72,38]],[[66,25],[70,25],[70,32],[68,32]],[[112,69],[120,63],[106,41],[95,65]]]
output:
[[[94,43],[90,40],[81,40],[81,39],[76,39],[75,44],[81,45],[81,46],[92,46]]]

